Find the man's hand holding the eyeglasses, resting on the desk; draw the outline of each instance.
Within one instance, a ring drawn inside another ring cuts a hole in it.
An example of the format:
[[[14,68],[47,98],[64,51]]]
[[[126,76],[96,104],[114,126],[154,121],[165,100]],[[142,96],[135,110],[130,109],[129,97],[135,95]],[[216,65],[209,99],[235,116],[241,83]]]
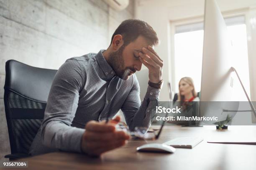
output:
[[[115,125],[118,122],[120,122],[119,116],[108,123],[94,120],[88,122],[82,136],[82,151],[88,155],[99,156],[104,152],[125,145],[130,136],[124,131],[115,130]]]

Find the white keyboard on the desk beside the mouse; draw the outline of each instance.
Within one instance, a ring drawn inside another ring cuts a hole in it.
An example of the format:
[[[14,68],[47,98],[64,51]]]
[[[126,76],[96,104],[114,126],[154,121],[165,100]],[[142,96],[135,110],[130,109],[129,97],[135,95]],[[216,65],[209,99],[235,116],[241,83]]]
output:
[[[175,138],[165,142],[165,145],[172,146],[174,148],[193,148],[198,143],[202,142],[204,139],[199,137],[182,137]]]

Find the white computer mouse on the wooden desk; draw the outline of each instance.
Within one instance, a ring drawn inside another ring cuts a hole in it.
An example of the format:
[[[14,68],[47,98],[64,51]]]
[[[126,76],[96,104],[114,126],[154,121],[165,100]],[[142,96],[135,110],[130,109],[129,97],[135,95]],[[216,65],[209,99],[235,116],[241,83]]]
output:
[[[175,148],[162,143],[149,143],[137,148],[139,152],[161,152],[161,153],[174,153]]]

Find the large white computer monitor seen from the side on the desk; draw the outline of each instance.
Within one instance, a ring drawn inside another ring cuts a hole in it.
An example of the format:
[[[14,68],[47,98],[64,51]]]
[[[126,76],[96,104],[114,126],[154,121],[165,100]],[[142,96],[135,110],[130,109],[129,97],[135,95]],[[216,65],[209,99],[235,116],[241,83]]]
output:
[[[227,114],[231,117],[236,114],[223,112],[238,110],[239,106],[237,89],[233,87],[236,77],[231,67],[232,45],[225,21],[215,0],[205,0],[201,116],[216,116],[219,122],[225,120]]]

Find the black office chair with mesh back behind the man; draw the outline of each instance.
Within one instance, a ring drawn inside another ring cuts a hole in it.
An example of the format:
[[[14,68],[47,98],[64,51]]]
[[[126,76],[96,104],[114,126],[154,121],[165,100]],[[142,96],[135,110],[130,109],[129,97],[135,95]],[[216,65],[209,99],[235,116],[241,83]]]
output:
[[[8,60],[5,71],[4,103],[11,148],[11,154],[5,158],[13,160],[29,156],[57,70]]]

